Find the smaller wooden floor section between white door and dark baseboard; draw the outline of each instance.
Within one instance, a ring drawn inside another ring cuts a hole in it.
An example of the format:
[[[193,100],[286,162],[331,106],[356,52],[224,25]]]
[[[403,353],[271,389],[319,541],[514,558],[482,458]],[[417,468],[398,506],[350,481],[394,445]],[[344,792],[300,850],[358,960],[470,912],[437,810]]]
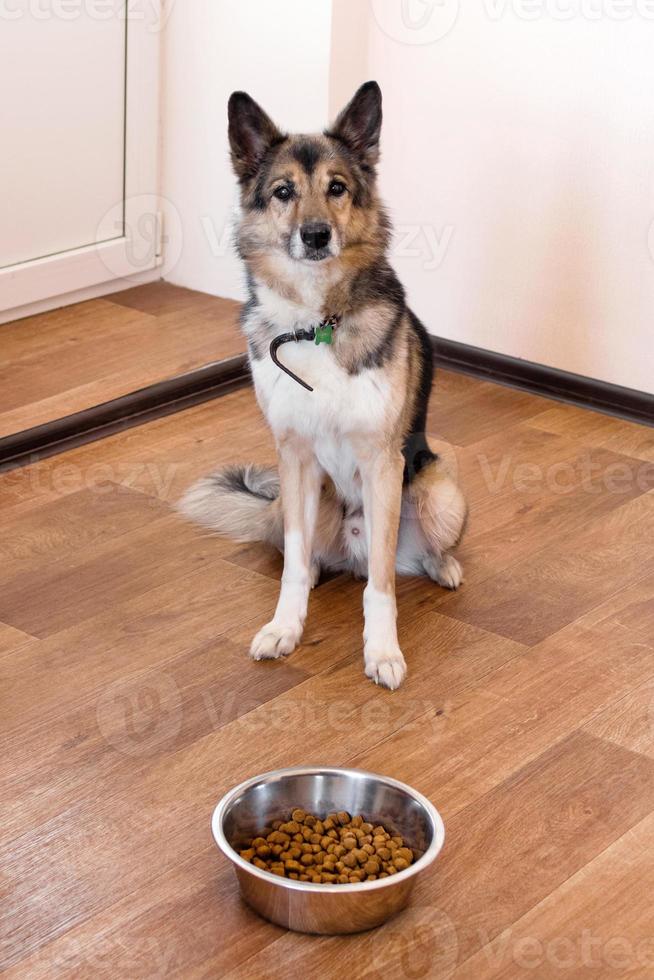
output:
[[[0,438],[243,352],[237,315],[156,282],[0,326]]]

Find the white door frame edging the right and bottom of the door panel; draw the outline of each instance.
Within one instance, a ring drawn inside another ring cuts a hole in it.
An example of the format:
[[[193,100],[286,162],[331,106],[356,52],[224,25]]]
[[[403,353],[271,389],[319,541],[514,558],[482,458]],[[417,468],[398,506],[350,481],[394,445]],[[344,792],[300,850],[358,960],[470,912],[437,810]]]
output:
[[[159,86],[162,0],[148,0],[154,19],[139,3],[126,3],[124,201],[104,219],[109,231],[81,248],[0,269],[0,321],[28,315],[21,308],[56,306],[57,296],[115,280],[143,279],[162,263],[159,197]],[[113,237],[116,223],[122,234]],[[109,240],[107,240],[109,239]],[[128,283],[127,283],[128,284]],[[52,304],[48,301],[52,300]]]

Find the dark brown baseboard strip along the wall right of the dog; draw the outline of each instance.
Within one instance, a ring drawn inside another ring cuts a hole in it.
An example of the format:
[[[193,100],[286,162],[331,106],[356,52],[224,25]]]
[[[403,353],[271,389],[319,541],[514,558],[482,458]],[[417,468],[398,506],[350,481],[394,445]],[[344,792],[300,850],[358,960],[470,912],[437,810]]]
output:
[[[654,425],[654,395],[559,371],[533,361],[495,354],[455,340],[432,337],[436,365],[533,395],[580,405],[630,422]]]

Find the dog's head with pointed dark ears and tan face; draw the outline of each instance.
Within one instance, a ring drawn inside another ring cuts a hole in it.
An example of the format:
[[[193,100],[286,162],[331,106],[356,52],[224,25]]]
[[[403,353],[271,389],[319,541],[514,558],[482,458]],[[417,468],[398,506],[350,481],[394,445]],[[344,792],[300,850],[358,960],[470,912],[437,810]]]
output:
[[[375,189],[381,91],[366,82],[325,133],[289,136],[245,92],[229,100],[232,165],[241,185],[245,258],[283,252],[306,265],[382,251]]]

